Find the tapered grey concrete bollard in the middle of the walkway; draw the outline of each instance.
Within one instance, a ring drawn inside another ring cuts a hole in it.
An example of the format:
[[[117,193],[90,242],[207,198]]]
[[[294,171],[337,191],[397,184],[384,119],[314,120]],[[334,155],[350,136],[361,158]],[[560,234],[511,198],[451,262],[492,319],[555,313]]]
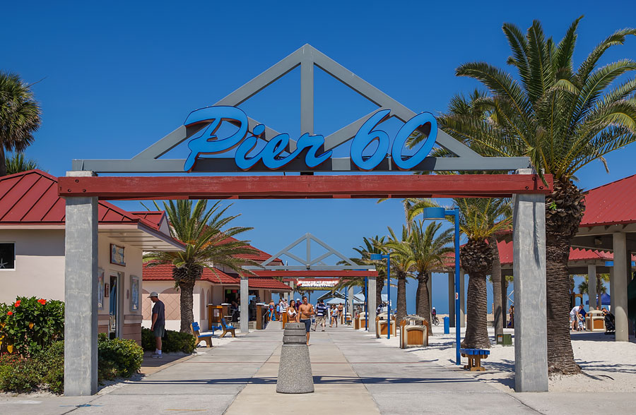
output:
[[[314,392],[314,377],[305,324],[287,323],[283,331],[281,363],[278,366],[278,393]]]

